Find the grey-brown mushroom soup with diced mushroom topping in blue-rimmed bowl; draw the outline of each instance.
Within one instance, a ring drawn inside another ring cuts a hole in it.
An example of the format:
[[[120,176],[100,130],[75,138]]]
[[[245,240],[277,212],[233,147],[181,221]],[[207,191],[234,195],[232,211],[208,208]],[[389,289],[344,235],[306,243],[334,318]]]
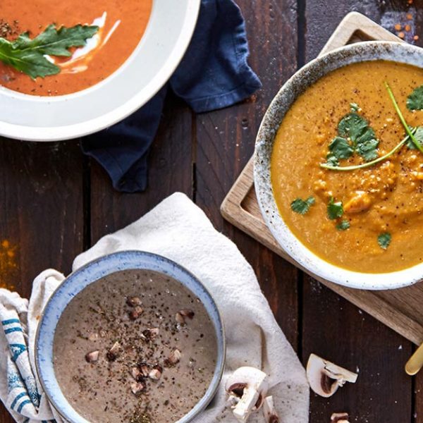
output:
[[[63,395],[93,423],[171,423],[204,396],[217,341],[206,309],[175,279],[118,271],[69,303],[54,334]]]

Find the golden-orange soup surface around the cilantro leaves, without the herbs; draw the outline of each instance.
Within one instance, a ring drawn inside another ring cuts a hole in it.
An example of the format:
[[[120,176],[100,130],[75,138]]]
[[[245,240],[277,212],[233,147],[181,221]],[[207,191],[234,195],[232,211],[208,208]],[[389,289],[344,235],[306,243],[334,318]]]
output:
[[[338,123],[357,104],[384,156],[405,137],[384,83],[388,82],[408,125],[423,125],[423,111],[407,109],[407,96],[423,85],[423,70],[390,61],[345,66],[321,78],[293,104],[281,123],[271,156],[271,184],[278,209],[294,235],[322,259],[364,273],[398,271],[423,260],[423,154],[403,145],[368,168],[321,168]],[[347,137],[351,144],[350,138]],[[353,154],[339,166],[365,163]],[[295,199],[312,196],[299,214]],[[342,202],[343,216],[329,219],[328,204]],[[344,221],[349,228],[336,228]],[[348,226],[348,224],[347,224]],[[383,247],[378,238],[388,233]]]

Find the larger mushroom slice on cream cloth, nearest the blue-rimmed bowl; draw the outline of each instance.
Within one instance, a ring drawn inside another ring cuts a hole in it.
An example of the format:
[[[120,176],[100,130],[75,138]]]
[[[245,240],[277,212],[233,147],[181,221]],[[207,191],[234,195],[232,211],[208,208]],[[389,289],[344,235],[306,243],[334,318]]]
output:
[[[239,367],[228,377],[226,391],[238,422],[247,422],[259,410],[267,393],[267,375],[255,367]]]

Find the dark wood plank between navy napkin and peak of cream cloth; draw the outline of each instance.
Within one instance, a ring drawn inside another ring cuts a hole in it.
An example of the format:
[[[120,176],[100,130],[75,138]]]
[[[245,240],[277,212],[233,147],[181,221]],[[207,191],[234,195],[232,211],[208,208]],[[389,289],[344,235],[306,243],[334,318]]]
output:
[[[190,109],[168,94],[161,125],[149,152],[149,183],[145,192],[114,191],[104,169],[91,161],[92,243],[139,219],[173,192],[185,192],[191,197],[191,133]]]

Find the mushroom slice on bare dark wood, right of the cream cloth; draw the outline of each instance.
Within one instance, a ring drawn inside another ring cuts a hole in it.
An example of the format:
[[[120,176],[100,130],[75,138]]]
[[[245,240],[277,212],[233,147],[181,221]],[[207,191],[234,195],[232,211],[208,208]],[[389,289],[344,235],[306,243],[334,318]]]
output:
[[[357,374],[339,367],[318,355],[311,354],[307,362],[307,379],[312,391],[328,398],[345,382],[355,384]]]

